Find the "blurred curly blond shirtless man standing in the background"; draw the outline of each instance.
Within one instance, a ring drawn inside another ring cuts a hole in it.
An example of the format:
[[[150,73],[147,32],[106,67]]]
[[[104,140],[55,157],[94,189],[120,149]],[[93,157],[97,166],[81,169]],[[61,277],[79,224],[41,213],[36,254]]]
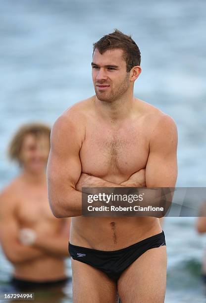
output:
[[[67,281],[70,218],[56,219],[48,201],[50,132],[43,124],[24,125],[9,147],[22,171],[0,193],[0,243],[14,266],[11,282],[17,289]]]

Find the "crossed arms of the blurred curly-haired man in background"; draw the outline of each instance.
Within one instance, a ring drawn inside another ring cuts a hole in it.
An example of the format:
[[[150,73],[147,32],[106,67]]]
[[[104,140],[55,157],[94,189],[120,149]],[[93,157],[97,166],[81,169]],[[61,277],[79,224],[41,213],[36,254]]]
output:
[[[37,235],[34,244],[24,245],[19,241],[21,227],[16,218],[16,201],[8,190],[4,190],[0,194],[0,245],[7,259],[13,264],[28,262],[48,255],[68,256],[70,228],[68,221],[69,219],[62,221],[62,231],[58,235],[52,235],[52,237],[45,237],[44,234]]]

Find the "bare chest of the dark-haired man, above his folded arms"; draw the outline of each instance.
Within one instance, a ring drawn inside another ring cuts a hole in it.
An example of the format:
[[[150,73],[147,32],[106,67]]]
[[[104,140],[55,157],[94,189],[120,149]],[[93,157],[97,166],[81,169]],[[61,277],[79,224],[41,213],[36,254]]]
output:
[[[130,176],[146,166],[149,143],[142,127],[88,127],[80,152],[82,171],[94,176]]]

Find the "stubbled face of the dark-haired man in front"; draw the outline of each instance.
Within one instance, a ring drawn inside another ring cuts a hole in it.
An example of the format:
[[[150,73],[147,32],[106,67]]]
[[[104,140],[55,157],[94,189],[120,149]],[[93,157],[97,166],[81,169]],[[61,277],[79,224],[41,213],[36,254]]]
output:
[[[92,62],[92,79],[99,100],[113,102],[129,88],[130,73],[126,70],[123,50],[95,50]]]

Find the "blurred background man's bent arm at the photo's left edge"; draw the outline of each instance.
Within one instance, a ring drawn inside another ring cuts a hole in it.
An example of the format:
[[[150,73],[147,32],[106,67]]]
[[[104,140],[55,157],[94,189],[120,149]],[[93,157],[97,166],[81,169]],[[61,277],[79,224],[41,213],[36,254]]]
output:
[[[17,264],[45,255],[43,250],[28,247],[19,242],[20,226],[15,211],[14,197],[6,189],[0,194],[0,244],[7,259]]]

